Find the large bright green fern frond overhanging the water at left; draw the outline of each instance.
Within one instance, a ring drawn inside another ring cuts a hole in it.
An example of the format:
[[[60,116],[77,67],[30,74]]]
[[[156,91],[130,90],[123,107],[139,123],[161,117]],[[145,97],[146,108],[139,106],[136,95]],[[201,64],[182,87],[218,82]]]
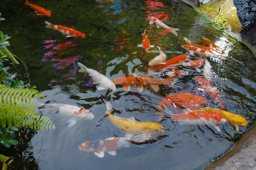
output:
[[[36,114],[38,110],[34,102],[39,96],[43,97],[38,91],[0,85],[0,125],[2,128],[9,128],[14,124],[16,127],[38,130],[54,129],[55,124],[51,119]]]

